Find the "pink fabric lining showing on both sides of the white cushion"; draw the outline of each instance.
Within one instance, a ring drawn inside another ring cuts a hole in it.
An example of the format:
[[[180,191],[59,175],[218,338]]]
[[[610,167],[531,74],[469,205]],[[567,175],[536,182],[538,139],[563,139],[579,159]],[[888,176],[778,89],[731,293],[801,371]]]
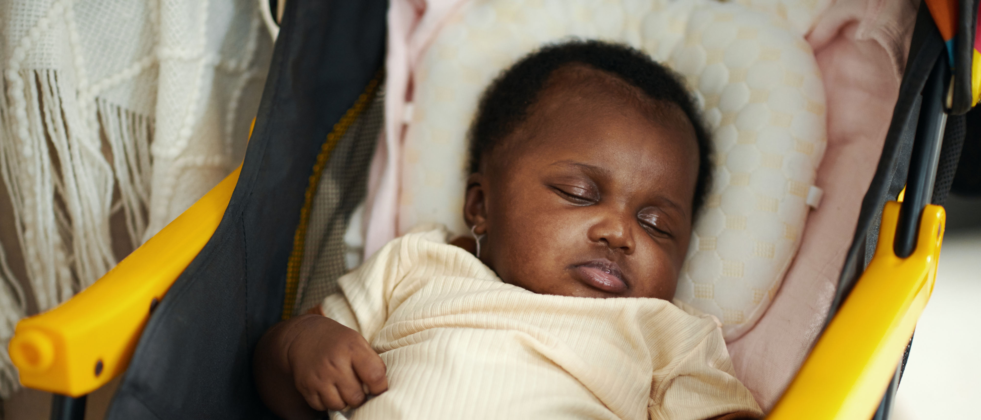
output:
[[[397,176],[411,70],[464,1],[390,3],[386,125],[370,171],[366,256],[398,231]],[[820,333],[882,151],[915,14],[916,5],[906,0],[839,0],[807,35],[827,99],[828,146],[815,181],[824,198],[808,217],[798,257],[773,303],[752,330],[729,343],[737,376],[764,410],[783,393]]]

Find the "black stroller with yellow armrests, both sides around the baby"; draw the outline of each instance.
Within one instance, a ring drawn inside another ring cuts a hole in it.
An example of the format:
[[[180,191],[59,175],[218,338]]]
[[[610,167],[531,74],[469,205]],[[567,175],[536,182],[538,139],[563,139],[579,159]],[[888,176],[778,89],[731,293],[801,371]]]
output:
[[[940,205],[981,128],[966,122],[981,93],[977,16],[975,1],[920,6],[823,332],[767,418],[889,417],[933,287]],[[389,24],[383,1],[287,3],[241,167],[76,298],[18,324],[11,357],[26,387],[59,395],[52,418],[80,418],[84,396],[120,375],[109,418],[275,418],[252,350],[296,312],[321,177],[347,176],[332,217],[363,198],[377,94],[392,84]]]

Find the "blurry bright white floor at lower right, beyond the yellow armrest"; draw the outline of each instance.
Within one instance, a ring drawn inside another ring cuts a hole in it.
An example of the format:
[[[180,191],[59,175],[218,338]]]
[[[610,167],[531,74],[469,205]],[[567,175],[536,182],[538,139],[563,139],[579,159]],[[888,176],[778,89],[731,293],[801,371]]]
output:
[[[893,420],[981,419],[981,230],[948,232]]]

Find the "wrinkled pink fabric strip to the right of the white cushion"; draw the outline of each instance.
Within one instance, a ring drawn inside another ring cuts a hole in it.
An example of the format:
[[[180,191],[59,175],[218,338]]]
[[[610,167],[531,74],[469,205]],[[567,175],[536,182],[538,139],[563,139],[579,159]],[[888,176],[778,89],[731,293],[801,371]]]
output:
[[[824,198],[767,312],[729,343],[737,376],[764,410],[777,401],[820,333],[852,243],[899,94],[916,8],[904,1],[833,5],[807,36],[824,76],[828,146]]]

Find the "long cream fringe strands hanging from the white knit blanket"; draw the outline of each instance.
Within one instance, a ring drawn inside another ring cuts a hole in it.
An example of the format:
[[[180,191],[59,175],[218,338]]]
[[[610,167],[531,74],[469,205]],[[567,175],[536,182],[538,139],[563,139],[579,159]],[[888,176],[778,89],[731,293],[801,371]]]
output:
[[[122,211],[127,245],[139,246],[150,196],[152,117],[86,98],[64,76],[7,70],[0,100],[0,176],[42,311],[116,265],[113,214]],[[19,387],[6,343],[27,306],[3,256],[0,249],[0,397]]]

